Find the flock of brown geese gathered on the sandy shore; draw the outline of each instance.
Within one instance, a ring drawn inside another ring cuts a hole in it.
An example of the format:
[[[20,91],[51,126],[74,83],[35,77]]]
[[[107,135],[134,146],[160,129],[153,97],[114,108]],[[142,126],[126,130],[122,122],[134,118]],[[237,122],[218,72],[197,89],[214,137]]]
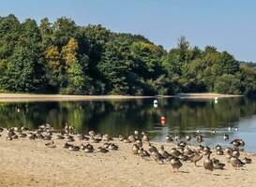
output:
[[[7,131],[7,140],[17,138],[47,140],[48,142],[45,143],[45,146],[48,148],[56,148],[54,139],[63,139],[65,141],[63,149],[68,149],[69,151],[106,153],[110,150],[117,151],[119,149],[118,145],[113,143],[113,137],[107,134],[101,135],[90,131],[88,135],[81,135],[77,134],[75,129],[68,125],[66,125],[61,132],[54,131],[50,124],[40,125],[36,131],[29,131],[26,127],[12,127],[8,129],[0,127],[0,133],[3,131]],[[192,138],[195,138],[196,142],[199,144],[198,146],[188,145]],[[80,146],[73,144],[76,139],[80,141]],[[173,172],[178,170],[184,162],[191,162],[197,166],[197,163],[202,159],[205,170],[213,171],[214,169],[225,168],[224,163],[211,157],[213,151],[215,151],[217,155],[225,156],[227,164],[233,165],[235,169],[251,163],[251,159],[248,157],[240,158],[240,151],[243,151],[243,147],[245,146],[245,142],[242,139],[233,139],[233,141],[231,141],[232,148],[223,149],[220,145],[217,145],[215,148],[211,149],[208,146],[201,145],[203,136],[200,134],[195,137],[188,135],[184,139],[181,139],[179,136],[167,136],[165,137],[165,141],[167,143],[173,142],[173,144],[170,145],[175,145],[171,151],[166,151],[163,145],[161,145],[159,149],[152,145],[148,134],[145,132],[139,133],[138,131],[134,131],[134,133],[128,137],[119,135],[118,139],[124,143],[131,144],[132,153],[143,159],[152,159],[158,164],[171,164]],[[224,135],[223,139],[227,141],[229,140],[229,136]],[[100,142],[103,142],[103,145],[95,149],[92,143]]]

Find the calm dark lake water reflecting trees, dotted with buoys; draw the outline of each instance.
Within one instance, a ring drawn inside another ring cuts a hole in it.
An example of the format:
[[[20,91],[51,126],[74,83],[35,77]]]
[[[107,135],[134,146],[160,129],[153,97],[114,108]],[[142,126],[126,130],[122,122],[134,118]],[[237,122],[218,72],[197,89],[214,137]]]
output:
[[[199,128],[205,137],[203,144],[229,146],[222,139],[226,133],[230,138],[243,138],[246,151],[256,152],[255,99],[221,98],[215,104],[211,99],[160,98],[158,108],[153,107],[153,100],[0,103],[0,126],[35,129],[50,123],[62,129],[68,122],[81,133],[96,130],[117,137],[137,129],[149,132],[157,141],[163,141],[166,135],[196,135]],[[160,124],[161,116],[166,118],[164,125]],[[234,127],[238,127],[237,132]],[[211,129],[217,133],[212,135]]]

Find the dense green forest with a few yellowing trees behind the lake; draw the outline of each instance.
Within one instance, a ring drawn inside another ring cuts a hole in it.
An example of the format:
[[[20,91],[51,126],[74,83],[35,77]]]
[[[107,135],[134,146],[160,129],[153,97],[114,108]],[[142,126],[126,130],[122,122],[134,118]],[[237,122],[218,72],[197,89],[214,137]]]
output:
[[[0,90],[46,94],[256,94],[256,69],[186,37],[169,51],[144,36],[60,18],[0,17]]]

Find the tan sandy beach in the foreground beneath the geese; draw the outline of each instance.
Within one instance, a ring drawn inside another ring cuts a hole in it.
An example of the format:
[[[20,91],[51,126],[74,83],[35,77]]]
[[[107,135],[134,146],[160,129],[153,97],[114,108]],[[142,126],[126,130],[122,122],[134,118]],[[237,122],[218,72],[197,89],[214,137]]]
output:
[[[170,164],[158,165],[131,152],[131,144],[119,140],[118,151],[85,153],[62,148],[65,140],[55,140],[56,148],[47,148],[48,141],[20,138],[12,141],[0,137],[0,186],[255,186],[256,156],[247,154],[252,164],[239,170],[226,165],[225,170],[205,172],[199,166],[183,162],[176,173]],[[79,145],[79,140],[75,144]],[[93,144],[95,147],[103,143]],[[171,143],[163,143],[167,151]],[[159,147],[159,143],[154,143]],[[245,156],[243,153],[242,156]],[[225,163],[224,156],[213,157]]]

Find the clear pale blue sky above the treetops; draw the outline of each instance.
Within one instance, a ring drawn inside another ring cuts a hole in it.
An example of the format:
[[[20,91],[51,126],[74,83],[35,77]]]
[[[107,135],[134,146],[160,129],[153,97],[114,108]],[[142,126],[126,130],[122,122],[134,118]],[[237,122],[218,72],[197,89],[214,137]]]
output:
[[[21,21],[66,16],[79,25],[100,23],[146,36],[167,50],[186,36],[193,46],[213,45],[256,62],[254,0],[1,0],[0,16],[10,13]]]

